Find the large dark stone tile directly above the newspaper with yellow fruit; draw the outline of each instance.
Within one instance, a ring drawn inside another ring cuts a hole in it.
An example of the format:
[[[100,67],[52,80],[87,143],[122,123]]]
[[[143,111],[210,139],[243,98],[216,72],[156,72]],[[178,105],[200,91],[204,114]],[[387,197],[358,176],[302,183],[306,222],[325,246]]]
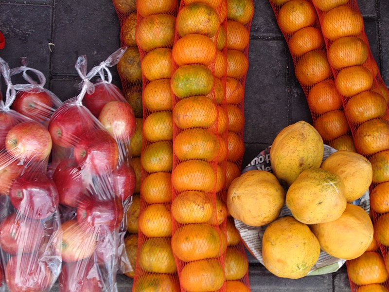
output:
[[[245,92],[245,142],[271,144],[287,126],[285,42],[252,39]]]

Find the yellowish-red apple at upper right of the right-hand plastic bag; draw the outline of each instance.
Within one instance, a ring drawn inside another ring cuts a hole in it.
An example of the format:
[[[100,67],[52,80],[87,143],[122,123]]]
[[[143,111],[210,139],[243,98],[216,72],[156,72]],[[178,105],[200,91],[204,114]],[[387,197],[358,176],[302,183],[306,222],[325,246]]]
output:
[[[99,121],[116,141],[129,141],[135,133],[136,121],[134,111],[126,102],[108,102],[100,112]]]

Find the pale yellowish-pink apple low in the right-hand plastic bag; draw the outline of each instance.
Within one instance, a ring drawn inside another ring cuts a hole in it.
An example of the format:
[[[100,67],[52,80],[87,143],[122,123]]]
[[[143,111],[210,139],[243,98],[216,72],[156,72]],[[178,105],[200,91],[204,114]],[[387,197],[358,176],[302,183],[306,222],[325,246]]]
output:
[[[96,234],[87,231],[76,220],[62,223],[61,230],[53,241],[58,255],[64,262],[74,262],[93,255],[96,248]]]

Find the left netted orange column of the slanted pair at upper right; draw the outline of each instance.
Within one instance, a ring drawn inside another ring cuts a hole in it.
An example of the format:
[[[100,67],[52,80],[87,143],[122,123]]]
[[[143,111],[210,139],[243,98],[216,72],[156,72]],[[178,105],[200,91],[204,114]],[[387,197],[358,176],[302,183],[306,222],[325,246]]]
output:
[[[355,152],[311,0],[270,0],[270,3],[292,55],[314,127],[325,144]]]

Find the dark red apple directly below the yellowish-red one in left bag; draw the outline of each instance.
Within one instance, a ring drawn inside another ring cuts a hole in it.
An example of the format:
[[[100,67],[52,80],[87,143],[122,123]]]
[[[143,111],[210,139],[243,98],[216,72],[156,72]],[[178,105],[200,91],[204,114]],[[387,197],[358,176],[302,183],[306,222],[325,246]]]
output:
[[[10,197],[14,207],[32,219],[48,218],[58,208],[55,183],[44,174],[18,177],[11,185]]]

